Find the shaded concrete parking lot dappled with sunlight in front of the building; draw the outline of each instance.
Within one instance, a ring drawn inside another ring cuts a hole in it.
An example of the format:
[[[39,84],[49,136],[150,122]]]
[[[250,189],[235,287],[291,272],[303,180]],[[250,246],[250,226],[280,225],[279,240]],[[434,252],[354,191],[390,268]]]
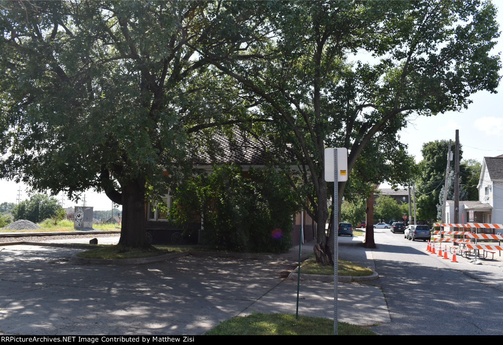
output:
[[[81,251],[0,247],[0,330],[6,334],[201,334],[254,311],[295,313],[294,262],[187,256],[136,266],[70,263]],[[302,282],[301,315],[333,317],[333,284]],[[368,307],[368,304],[372,307]],[[340,284],[339,320],[389,321],[379,288]]]

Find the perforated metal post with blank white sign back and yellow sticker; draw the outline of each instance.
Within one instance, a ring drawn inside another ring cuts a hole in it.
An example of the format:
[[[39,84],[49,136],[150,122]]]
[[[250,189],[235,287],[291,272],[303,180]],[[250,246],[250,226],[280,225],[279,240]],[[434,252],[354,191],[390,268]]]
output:
[[[333,334],[337,335],[337,285],[339,282],[339,242],[336,229],[339,224],[339,182],[348,180],[348,150],[325,149],[325,181],[333,181]]]

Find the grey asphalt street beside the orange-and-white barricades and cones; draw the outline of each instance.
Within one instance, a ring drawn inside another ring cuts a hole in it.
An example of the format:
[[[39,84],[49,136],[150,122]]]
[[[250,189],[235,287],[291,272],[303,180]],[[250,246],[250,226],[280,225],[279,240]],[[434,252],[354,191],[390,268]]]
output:
[[[408,241],[389,229],[376,229],[375,239],[378,248],[369,260],[379,279],[373,283],[383,289],[391,322],[371,329],[381,334],[503,334],[498,253],[498,260],[482,260],[482,265],[459,255],[459,263],[452,263],[426,252],[423,241]]]

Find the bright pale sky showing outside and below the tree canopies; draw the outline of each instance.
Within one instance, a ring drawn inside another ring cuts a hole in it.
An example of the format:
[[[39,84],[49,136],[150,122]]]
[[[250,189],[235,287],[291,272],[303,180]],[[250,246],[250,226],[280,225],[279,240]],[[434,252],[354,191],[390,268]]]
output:
[[[497,21],[500,31],[503,30],[503,6],[499,6]],[[494,54],[503,52],[503,37],[498,39]],[[500,74],[503,71],[500,71]],[[398,135],[400,141],[408,146],[408,153],[415,157],[416,162],[423,159],[421,148],[424,143],[435,140],[455,140],[456,130],[459,130],[459,140],[463,148],[463,159],[475,159],[482,162],[483,157],[494,157],[503,154],[503,80],[500,81],[498,93],[486,91],[478,92],[471,96],[473,103],[468,109],[460,112],[447,112],[434,117],[411,117],[406,128]],[[447,159],[447,157],[446,157]],[[389,188],[389,184],[382,183],[381,188]],[[17,203],[18,193],[20,200],[29,197],[27,186],[16,184],[13,181],[0,180],[0,203]],[[86,197],[86,206],[93,206],[95,210],[108,210],[112,208],[112,201],[104,193],[88,190],[82,193],[82,199],[77,203],[68,200],[61,193],[55,196],[63,207],[73,207],[83,204]],[[121,207],[119,207],[121,208]]]

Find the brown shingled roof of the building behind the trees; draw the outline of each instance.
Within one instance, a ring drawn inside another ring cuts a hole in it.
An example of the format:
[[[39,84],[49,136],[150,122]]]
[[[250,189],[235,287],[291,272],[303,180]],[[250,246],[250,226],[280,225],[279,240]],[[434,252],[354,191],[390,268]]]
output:
[[[192,154],[195,165],[211,164],[239,164],[239,165],[265,165],[271,161],[278,152],[269,149],[272,145],[267,139],[257,140],[241,131],[233,131],[232,138],[218,131],[207,141],[207,147]],[[295,161],[288,152],[280,154],[282,159]]]

